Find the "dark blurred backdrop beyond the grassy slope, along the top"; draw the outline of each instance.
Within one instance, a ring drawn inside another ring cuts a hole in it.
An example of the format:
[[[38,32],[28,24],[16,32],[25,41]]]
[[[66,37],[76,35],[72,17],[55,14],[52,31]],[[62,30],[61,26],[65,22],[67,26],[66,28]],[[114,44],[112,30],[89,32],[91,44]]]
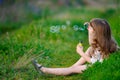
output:
[[[72,7],[117,10],[119,0],[0,0],[0,34]],[[106,17],[110,17],[109,14]]]

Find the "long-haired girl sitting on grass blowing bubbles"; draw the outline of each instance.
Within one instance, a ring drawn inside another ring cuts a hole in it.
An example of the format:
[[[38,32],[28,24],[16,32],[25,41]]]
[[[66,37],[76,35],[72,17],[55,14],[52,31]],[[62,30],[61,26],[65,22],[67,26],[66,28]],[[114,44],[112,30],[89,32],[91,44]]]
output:
[[[37,71],[54,75],[70,75],[73,73],[82,73],[87,69],[88,63],[102,62],[109,54],[118,50],[116,41],[111,36],[111,29],[108,22],[104,19],[94,18],[88,25],[88,38],[90,47],[83,52],[83,46],[77,45],[76,51],[81,58],[72,66],[67,68],[47,68],[32,61]]]

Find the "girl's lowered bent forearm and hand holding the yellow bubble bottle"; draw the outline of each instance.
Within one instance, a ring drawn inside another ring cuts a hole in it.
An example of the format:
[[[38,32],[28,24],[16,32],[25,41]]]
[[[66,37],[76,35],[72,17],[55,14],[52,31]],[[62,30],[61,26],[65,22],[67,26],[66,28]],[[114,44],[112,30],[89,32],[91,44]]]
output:
[[[83,57],[87,62],[91,63],[91,58],[90,58],[90,56],[88,56],[88,55],[90,55],[90,47],[87,49],[86,54],[83,52],[83,47],[82,47],[82,46],[79,46],[79,45],[77,45],[76,51],[77,51],[77,53],[78,53],[79,55],[81,55],[81,57]],[[88,55],[87,55],[87,54],[88,54]]]

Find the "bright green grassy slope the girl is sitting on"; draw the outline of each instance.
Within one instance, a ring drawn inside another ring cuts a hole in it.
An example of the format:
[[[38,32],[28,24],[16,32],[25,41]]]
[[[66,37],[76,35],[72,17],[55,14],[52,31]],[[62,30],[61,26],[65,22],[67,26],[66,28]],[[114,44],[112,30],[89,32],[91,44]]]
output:
[[[120,44],[120,16],[116,10],[71,8],[61,10],[47,19],[33,21],[18,30],[0,37],[0,79],[1,80],[119,80],[120,52],[110,55],[102,64],[96,63],[83,74],[71,76],[39,75],[31,64],[32,59],[46,67],[68,67],[80,56],[76,45],[83,40],[84,51],[88,48],[87,31],[74,31],[73,26],[83,27],[91,18],[105,18],[110,22],[113,36]],[[112,11],[109,12],[109,11]],[[109,15],[109,16],[106,16]],[[70,25],[65,30],[61,25]],[[60,25],[60,32],[51,33],[50,27]]]

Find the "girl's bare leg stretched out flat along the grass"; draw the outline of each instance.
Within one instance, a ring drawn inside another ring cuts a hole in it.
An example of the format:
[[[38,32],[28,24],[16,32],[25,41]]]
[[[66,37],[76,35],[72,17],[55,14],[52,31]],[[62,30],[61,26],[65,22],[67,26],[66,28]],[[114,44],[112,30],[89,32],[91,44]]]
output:
[[[86,69],[86,65],[72,66],[68,68],[46,68],[42,67],[43,73],[54,74],[54,75],[70,75],[72,73],[82,73]]]

